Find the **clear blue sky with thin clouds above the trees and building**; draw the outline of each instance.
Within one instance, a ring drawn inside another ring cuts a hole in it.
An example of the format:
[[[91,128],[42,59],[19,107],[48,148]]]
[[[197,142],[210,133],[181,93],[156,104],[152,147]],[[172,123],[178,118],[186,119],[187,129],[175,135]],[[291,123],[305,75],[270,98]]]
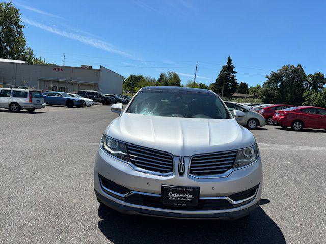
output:
[[[326,73],[326,1],[14,1],[28,46],[48,62],[127,77],[164,71],[215,82],[230,55],[238,82],[286,64]]]

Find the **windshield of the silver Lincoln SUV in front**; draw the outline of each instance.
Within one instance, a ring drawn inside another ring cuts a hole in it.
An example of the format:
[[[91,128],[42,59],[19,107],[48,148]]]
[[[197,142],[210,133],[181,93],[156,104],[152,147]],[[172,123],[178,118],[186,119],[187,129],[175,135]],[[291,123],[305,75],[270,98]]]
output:
[[[164,117],[230,118],[218,96],[200,92],[141,91],[126,112]]]

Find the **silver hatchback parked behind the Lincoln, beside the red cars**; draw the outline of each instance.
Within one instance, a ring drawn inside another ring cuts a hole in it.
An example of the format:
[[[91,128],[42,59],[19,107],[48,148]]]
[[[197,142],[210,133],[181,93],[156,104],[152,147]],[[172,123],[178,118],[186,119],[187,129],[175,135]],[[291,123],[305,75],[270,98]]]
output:
[[[239,117],[236,121],[242,125],[247,126],[249,129],[256,129],[258,126],[265,126],[266,120],[265,118],[256,112],[250,110],[250,106],[242,105],[240,103],[235,102],[224,102],[230,111],[232,110],[240,110],[246,114],[244,117]]]

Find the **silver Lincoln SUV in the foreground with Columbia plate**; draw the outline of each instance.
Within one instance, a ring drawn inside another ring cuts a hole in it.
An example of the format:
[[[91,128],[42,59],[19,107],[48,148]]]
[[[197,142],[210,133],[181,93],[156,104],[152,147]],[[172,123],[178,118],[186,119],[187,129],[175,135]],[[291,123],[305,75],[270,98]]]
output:
[[[106,128],[97,151],[98,201],[125,214],[237,219],[259,204],[257,142],[210,90],[144,87]]]

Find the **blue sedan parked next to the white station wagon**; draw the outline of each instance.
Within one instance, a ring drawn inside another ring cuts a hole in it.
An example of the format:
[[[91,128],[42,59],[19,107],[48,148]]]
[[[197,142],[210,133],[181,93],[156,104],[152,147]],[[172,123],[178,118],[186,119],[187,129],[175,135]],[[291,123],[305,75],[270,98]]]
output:
[[[82,107],[85,106],[85,101],[81,98],[74,98],[64,92],[44,92],[44,102],[50,106],[55,105],[66,105],[69,108],[73,106]]]

